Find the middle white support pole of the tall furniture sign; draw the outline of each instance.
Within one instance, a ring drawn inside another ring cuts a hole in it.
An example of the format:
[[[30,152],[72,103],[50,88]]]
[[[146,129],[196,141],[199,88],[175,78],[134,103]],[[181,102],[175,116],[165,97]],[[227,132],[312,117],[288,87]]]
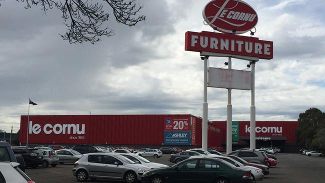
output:
[[[231,74],[231,57],[228,57],[228,69]],[[231,76],[231,75],[230,75]],[[231,105],[231,89],[228,89],[228,104],[227,104],[227,127],[226,127],[226,153],[232,151],[232,105]]]

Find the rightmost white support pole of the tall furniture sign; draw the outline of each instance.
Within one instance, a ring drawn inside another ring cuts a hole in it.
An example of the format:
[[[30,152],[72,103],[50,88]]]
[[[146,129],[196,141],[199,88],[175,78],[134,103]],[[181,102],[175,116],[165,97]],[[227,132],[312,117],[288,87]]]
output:
[[[255,146],[255,61],[251,62],[251,105],[250,105],[250,149],[253,150],[256,148]]]

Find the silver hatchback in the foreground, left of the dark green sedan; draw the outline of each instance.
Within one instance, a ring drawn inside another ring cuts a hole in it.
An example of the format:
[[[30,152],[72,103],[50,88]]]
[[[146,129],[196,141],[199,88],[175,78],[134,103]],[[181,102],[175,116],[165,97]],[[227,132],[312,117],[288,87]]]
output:
[[[87,153],[74,163],[73,176],[78,181],[88,178],[115,179],[133,183],[141,180],[141,175],[150,168],[135,163],[128,158],[113,153]]]

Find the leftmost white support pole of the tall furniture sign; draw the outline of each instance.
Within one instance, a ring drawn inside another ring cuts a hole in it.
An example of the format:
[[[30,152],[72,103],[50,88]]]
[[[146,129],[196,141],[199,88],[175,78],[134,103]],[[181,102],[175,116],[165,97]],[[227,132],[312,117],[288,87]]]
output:
[[[204,56],[204,78],[203,78],[203,118],[202,118],[202,149],[207,150],[207,58]]]

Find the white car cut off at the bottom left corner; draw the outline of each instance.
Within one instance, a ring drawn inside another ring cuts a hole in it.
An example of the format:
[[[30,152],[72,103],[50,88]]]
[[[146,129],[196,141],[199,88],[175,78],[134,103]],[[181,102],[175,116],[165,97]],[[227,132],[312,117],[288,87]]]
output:
[[[18,166],[17,162],[0,162],[0,182],[35,183]]]

